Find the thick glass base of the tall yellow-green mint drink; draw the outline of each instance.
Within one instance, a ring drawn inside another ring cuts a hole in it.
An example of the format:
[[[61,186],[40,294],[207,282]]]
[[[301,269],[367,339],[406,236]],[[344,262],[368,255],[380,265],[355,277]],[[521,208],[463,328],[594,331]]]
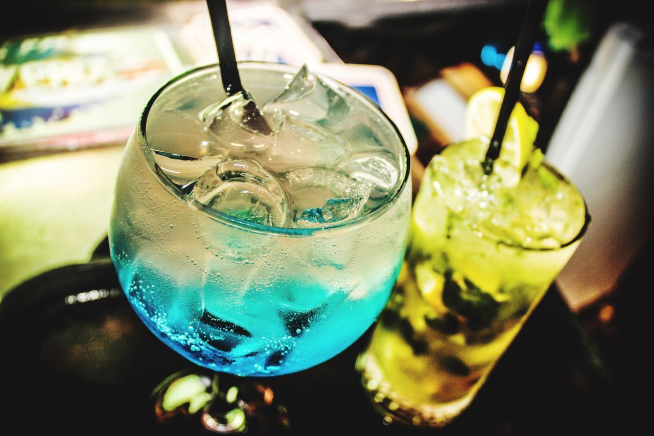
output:
[[[472,390],[465,397],[448,403],[417,404],[393,390],[373,355],[360,354],[356,359],[356,371],[386,425],[400,422],[417,427],[444,427],[468,407],[475,395]]]

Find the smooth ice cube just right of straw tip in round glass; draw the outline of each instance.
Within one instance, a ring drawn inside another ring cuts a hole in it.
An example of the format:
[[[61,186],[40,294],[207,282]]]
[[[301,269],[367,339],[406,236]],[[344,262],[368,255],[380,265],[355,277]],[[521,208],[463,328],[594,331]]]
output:
[[[349,144],[324,128],[283,115],[272,147],[262,156],[269,170],[285,172],[308,166],[335,166],[349,153]]]

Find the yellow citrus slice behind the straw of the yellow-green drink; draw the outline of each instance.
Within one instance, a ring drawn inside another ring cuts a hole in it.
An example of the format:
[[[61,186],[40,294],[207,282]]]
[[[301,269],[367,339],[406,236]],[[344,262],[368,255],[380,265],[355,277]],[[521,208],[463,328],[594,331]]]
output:
[[[466,107],[466,138],[485,138],[490,141],[497,115],[504,98],[504,88],[482,88],[468,100]],[[516,103],[509,118],[498,164],[504,170],[520,173],[534,149],[538,122],[527,115],[525,107]]]

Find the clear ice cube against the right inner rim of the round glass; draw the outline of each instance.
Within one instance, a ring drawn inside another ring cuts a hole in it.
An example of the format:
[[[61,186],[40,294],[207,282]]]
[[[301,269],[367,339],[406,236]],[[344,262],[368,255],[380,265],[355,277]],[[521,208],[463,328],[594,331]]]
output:
[[[338,169],[353,179],[370,185],[370,200],[373,201],[387,198],[400,175],[390,153],[357,153],[342,162]]]

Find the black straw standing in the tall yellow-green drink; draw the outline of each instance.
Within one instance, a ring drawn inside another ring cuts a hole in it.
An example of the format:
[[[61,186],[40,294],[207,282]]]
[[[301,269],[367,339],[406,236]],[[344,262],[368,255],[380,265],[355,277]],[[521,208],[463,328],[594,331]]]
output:
[[[513,50],[513,60],[511,60],[511,68],[509,75],[504,84],[504,99],[500,106],[500,113],[495,123],[495,130],[490,138],[489,149],[486,153],[486,159],[482,166],[486,174],[492,172],[494,161],[500,156],[500,149],[502,149],[502,140],[506,134],[506,127],[509,124],[509,117],[515,103],[518,101],[520,95],[520,84],[523,81],[523,74],[525,74],[525,65],[532,52],[534,43],[536,42],[536,35],[540,28],[540,22],[543,18],[543,12],[547,6],[548,0],[529,0],[526,10],[525,21],[518,37],[518,43]]]

